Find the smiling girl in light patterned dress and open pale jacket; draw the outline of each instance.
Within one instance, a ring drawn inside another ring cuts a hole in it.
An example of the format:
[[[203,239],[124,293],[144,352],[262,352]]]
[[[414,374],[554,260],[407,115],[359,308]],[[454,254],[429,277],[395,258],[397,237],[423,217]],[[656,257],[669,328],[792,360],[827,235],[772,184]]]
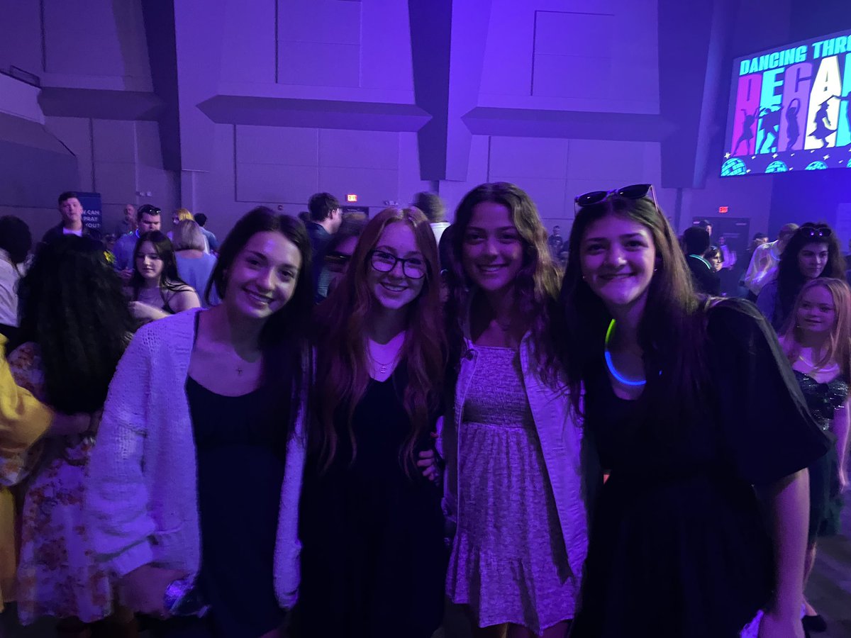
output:
[[[558,271],[537,208],[516,185],[467,193],[451,231],[447,594],[477,636],[561,637],[587,521],[581,430],[551,341]]]

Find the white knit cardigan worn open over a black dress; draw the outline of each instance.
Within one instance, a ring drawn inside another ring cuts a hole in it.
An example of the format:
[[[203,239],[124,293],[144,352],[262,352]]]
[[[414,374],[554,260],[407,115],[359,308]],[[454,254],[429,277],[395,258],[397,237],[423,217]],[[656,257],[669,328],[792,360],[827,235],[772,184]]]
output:
[[[193,576],[201,567],[195,441],[184,390],[198,311],[140,328],[110,384],[89,461],[86,509],[95,551],[118,577],[147,563]],[[294,606],[299,585],[303,407],[288,443],[275,545],[275,593],[285,608]]]

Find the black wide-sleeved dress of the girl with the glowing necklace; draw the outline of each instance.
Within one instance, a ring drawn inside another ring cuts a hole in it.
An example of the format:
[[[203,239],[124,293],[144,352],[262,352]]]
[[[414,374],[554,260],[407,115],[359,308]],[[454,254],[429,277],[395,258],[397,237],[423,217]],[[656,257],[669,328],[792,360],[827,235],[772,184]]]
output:
[[[707,312],[717,384],[676,435],[656,428],[654,405],[672,397],[654,400],[652,379],[635,402],[615,396],[603,356],[587,379],[585,427],[611,474],[573,638],[732,638],[769,601],[772,544],[751,485],[807,467],[829,441],[758,310]]]

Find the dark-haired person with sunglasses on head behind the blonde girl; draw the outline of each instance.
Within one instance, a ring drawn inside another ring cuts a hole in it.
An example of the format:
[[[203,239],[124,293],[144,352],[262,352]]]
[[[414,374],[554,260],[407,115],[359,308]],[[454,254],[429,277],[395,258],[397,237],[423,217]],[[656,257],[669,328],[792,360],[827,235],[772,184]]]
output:
[[[785,330],[804,282],[817,277],[845,277],[845,260],[837,237],[826,224],[808,222],[795,231],[780,255],[777,277],[766,283],[757,308],[778,333]]]

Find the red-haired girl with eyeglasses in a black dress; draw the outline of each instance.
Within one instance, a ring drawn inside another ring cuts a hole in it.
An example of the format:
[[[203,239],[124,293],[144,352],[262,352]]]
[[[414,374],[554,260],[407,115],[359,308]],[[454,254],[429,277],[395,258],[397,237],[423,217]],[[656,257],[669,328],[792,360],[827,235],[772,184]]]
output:
[[[443,618],[433,433],[443,399],[437,245],[416,208],[370,219],[317,308],[298,635],[428,638]]]

